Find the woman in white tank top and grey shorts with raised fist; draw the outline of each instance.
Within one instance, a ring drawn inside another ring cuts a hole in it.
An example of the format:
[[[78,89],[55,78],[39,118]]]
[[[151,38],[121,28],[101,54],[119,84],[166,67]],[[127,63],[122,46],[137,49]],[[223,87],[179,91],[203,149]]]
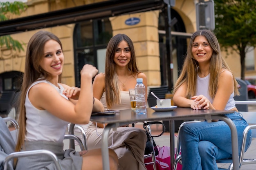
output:
[[[102,170],[101,149],[63,150],[69,122],[87,124],[92,111],[103,111],[103,105],[92,93],[92,77],[98,70],[89,64],[83,66],[81,88],[77,88],[61,83],[63,65],[62,45],[56,35],[47,31],[35,33],[27,45],[16,151],[50,150],[63,170]],[[109,151],[104,156],[110,158],[110,169],[117,170],[117,155]],[[16,164],[16,170],[45,169],[56,169],[47,155],[22,157]]]

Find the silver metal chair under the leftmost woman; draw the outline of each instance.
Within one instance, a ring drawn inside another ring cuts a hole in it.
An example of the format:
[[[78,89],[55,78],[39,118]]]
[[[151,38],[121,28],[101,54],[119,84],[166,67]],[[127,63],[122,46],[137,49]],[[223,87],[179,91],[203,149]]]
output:
[[[19,128],[19,125],[18,125],[17,121],[15,119],[11,118],[11,117],[5,117],[5,118],[3,118],[3,120],[4,120],[5,123],[11,122],[11,124],[13,124],[15,130],[11,131],[9,133],[9,135],[11,135],[13,137],[14,143],[16,144],[16,136],[15,135],[17,135],[17,131],[18,131],[18,128]],[[74,135],[65,135],[64,139],[74,139],[74,140],[78,141],[78,144],[79,144],[81,150],[84,150],[83,144],[82,144],[81,140],[78,137],[76,137]],[[14,148],[13,148],[13,150],[14,150]],[[4,159],[4,163],[3,163],[4,170],[7,170],[9,161],[11,161],[14,158],[28,157],[28,156],[34,156],[34,155],[47,155],[47,156],[49,156],[50,158],[52,158],[52,161],[54,162],[54,164],[56,166],[56,169],[57,170],[62,170],[61,165],[58,162],[58,158],[56,157],[56,155],[53,152],[51,152],[49,150],[31,150],[31,151],[20,151],[20,152],[10,153]]]

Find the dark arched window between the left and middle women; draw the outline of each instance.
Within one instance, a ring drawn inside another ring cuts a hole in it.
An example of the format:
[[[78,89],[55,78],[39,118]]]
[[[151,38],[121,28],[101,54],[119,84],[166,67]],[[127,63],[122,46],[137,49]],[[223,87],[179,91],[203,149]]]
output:
[[[75,82],[80,87],[80,71],[85,64],[92,64],[99,72],[105,71],[106,47],[112,38],[112,26],[108,18],[80,22],[75,26],[73,37]]]

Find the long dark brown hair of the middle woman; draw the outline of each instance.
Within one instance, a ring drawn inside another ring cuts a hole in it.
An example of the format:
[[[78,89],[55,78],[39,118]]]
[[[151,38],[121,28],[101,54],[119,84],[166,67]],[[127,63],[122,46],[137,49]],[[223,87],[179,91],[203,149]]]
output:
[[[118,86],[118,78],[116,74],[116,64],[114,62],[115,51],[121,41],[126,41],[131,52],[130,62],[127,64],[128,70],[133,73],[139,73],[139,68],[136,64],[135,49],[132,40],[125,34],[117,34],[110,39],[106,51],[106,64],[105,64],[105,91],[106,102],[108,108],[111,108],[113,103],[120,104],[120,92]]]

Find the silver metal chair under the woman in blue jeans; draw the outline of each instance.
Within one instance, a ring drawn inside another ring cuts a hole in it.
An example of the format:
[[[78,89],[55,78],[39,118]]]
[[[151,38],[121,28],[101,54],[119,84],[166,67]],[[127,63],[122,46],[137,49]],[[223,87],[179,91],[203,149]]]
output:
[[[236,104],[256,104],[256,101],[236,101]],[[246,112],[243,112],[244,114],[246,114]],[[256,114],[256,113],[255,113]],[[182,126],[184,126],[185,124],[189,124],[189,123],[195,123],[195,122],[200,122],[200,121],[186,121],[184,123],[182,123],[180,125],[180,128]],[[248,123],[249,124],[249,123]],[[179,128],[179,131],[180,131]],[[241,168],[241,166],[243,164],[253,164],[256,163],[256,158],[255,159],[247,159],[244,158],[244,154],[245,154],[245,144],[246,144],[246,139],[247,139],[247,133],[249,132],[249,130],[251,129],[256,129],[256,122],[249,124],[249,126],[247,126],[243,132],[243,142],[242,142],[242,146],[241,149],[239,151],[239,169]],[[174,169],[177,169],[177,164],[180,163],[182,164],[182,159],[181,159],[181,155],[180,155],[180,142],[179,142],[179,138],[177,141],[177,150],[176,150],[176,155],[178,155],[175,159],[174,162]],[[233,162],[232,159],[221,159],[221,160],[216,160],[217,163],[230,163],[228,168],[218,168],[219,170],[233,170]]]

